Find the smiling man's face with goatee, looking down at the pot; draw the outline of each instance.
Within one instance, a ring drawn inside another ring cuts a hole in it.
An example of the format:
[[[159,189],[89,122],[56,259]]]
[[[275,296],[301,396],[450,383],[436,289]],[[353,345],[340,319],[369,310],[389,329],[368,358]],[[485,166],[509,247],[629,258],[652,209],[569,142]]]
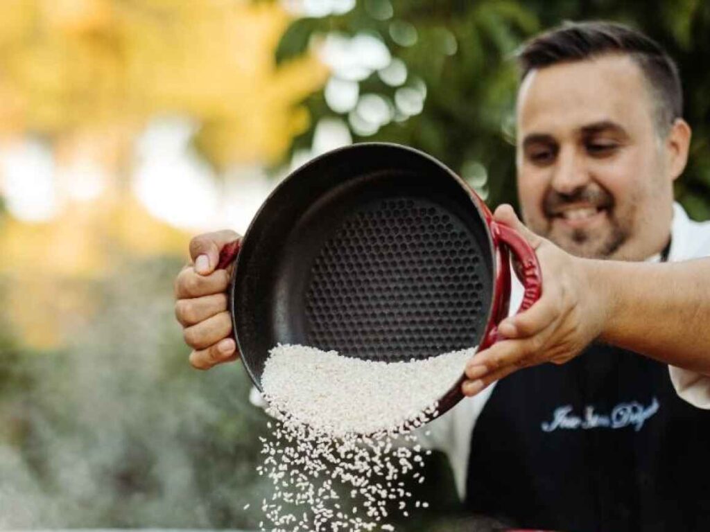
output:
[[[643,72],[606,55],[533,70],[518,94],[523,219],[581,257],[643,260],[669,237],[672,180]]]

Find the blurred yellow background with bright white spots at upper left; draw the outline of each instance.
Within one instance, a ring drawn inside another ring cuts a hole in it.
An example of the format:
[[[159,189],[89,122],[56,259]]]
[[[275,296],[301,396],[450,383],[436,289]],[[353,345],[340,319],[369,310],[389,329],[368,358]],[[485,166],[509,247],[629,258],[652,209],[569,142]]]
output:
[[[120,253],[187,249],[246,223],[308,124],[313,57],[277,67],[292,16],[234,0],[3,0],[0,272],[28,345],[61,342],[89,301],[72,280]]]

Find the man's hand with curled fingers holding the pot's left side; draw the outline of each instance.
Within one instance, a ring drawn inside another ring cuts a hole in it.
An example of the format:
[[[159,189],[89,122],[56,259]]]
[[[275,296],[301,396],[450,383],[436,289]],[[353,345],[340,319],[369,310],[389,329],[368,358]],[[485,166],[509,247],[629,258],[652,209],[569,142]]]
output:
[[[175,317],[182,325],[185,343],[192,348],[190,364],[198,370],[239,357],[231,338],[226,296],[234,265],[215,270],[219,252],[239,238],[234,231],[196,236],[190,240],[191,262],[175,279]]]

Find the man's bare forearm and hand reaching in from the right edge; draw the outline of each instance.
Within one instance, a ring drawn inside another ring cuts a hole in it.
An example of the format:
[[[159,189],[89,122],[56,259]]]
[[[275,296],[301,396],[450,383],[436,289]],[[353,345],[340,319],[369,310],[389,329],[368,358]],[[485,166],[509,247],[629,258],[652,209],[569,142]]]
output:
[[[710,375],[710,259],[667,264],[573,257],[523,226],[510,206],[496,220],[535,249],[542,297],[498,330],[506,340],[466,365],[466,395],[523,367],[561,364],[600,339]]]

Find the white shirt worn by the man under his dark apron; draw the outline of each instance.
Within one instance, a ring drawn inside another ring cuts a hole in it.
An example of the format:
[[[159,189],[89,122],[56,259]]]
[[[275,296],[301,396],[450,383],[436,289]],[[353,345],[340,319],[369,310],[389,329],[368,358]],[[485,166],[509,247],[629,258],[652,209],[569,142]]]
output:
[[[701,257],[710,257],[710,221],[694,222],[688,218],[682,206],[674,204],[668,261],[679,262]],[[652,257],[649,260],[659,260],[659,257]],[[515,275],[512,277],[511,314],[517,311],[523,299],[523,287]],[[670,380],[679,397],[701,409],[710,409],[709,376],[673,366],[670,366],[669,370]],[[425,443],[447,454],[454,472],[457,492],[461,498],[466,491],[471,432],[495,386],[496,384],[493,383],[475,397],[463,399],[457,406],[428,425],[430,436],[425,438]]]

